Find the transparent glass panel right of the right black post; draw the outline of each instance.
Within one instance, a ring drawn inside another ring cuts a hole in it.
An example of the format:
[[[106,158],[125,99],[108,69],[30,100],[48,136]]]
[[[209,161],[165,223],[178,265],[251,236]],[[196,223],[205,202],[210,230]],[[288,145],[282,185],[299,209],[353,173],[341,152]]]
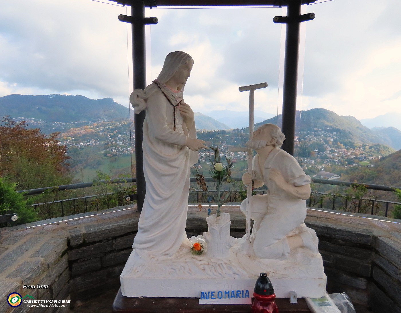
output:
[[[320,1],[306,7],[316,18],[303,23],[307,31],[296,154],[314,178],[400,186],[401,177],[393,174],[399,164],[395,151],[401,148],[396,142],[401,138],[396,83],[401,37],[393,20],[400,4],[344,4]],[[386,203],[373,200],[399,201],[393,192],[363,186],[315,184],[314,190],[332,195],[315,194],[311,205],[355,213],[386,215]],[[388,212],[392,208],[390,204]]]

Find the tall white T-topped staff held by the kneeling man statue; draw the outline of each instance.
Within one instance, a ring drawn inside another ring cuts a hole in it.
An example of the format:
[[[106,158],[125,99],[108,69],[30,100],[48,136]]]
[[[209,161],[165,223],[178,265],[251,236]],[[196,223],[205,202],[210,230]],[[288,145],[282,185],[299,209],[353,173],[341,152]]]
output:
[[[243,86],[239,87],[238,90],[241,91],[248,91],[249,90],[249,141],[252,140],[253,136],[253,100],[255,96],[255,89],[266,88],[267,83],[260,83],[255,85]],[[252,149],[248,148],[248,173],[251,175],[253,180],[253,171],[252,171]],[[246,212],[246,220],[247,224],[245,227],[246,232],[246,239],[249,240],[249,236],[251,234],[251,196],[252,196],[252,182],[248,185],[247,190],[247,212]]]

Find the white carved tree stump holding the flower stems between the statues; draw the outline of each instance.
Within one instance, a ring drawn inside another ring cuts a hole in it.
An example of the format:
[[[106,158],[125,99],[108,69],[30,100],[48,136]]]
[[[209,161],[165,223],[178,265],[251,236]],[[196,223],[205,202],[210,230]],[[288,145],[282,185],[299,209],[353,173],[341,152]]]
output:
[[[212,258],[224,258],[234,245],[235,238],[230,235],[230,214],[212,214],[206,218],[208,231],[203,233],[207,243],[207,255]]]

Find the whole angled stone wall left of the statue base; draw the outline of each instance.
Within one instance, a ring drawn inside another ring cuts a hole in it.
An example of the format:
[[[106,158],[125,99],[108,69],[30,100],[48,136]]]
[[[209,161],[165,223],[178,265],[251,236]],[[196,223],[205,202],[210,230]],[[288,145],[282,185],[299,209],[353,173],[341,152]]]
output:
[[[138,230],[139,213],[134,211],[121,207],[1,228],[0,312],[68,312],[70,305],[117,289]],[[70,303],[12,308],[6,301],[12,292]]]

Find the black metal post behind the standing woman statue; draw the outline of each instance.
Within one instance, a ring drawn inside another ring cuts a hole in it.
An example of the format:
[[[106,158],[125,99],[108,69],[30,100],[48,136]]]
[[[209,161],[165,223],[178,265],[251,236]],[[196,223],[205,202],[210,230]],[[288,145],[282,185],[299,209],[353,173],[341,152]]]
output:
[[[146,47],[145,47],[145,5],[143,1],[133,1],[132,16],[132,58],[134,68],[134,89],[146,87]],[[135,162],[136,162],[136,192],[138,194],[138,210],[142,210],[145,199],[146,185],[144,176],[144,155],[142,150],[142,125],[145,111],[135,114]]]

